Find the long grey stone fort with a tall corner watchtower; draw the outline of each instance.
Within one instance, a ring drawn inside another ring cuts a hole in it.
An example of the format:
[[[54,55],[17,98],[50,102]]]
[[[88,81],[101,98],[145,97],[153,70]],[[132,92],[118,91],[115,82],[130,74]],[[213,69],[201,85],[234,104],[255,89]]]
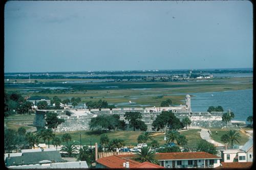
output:
[[[205,128],[220,128],[225,126],[222,122],[222,115],[225,112],[193,112],[190,105],[190,95],[185,96],[185,105],[172,107],[144,107],[144,108],[113,108],[111,109],[67,109],[67,110],[36,110],[33,126],[38,129],[45,127],[45,115],[55,112],[59,118],[65,119],[65,123],[60,124],[55,131],[77,131],[90,130],[89,123],[92,117],[101,114],[118,114],[124,120],[125,112],[140,112],[142,120],[147,125],[147,131],[152,131],[152,123],[162,111],[172,111],[180,120],[189,117],[190,126]],[[126,122],[128,123],[128,122]]]

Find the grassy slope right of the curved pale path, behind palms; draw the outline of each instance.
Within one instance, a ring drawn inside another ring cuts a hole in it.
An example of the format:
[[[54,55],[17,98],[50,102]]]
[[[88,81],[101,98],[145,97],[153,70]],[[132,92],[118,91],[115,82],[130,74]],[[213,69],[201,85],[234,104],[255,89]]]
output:
[[[229,129],[229,128],[228,128],[228,129],[227,129],[227,128],[223,128],[223,129],[221,129],[221,128],[211,128],[211,129],[210,129],[210,131],[211,131],[210,137],[211,137],[212,139],[214,139],[215,141],[217,141],[217,142],[223,143],[223,142],[221,141],[221,136],[224,135],[224,134],[226,134],[228,130],[232,130],[232,129]],[[251,130],[252,130],[252,129],[251,129]],[[216,134],[216,131],[217,131],[217,134]],[[236,130],[236,131],[241,135],[241,139],[239,140],[240,143],[236,143],[236,144],[238,144],[238,145],[244,145],[244,144],[248,141],[249,136],[245,135],[244,133],[242,133],[242,132],[239,131],[239,130]],[[223,144],[224,144],[224,143],[223,143]]]

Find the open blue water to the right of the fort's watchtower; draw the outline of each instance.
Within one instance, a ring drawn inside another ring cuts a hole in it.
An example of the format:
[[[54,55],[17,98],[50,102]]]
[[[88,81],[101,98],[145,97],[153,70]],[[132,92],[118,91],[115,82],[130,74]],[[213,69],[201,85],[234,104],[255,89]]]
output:
[[[212,95],[213,96],[212,96]],[[192,111],[207,111],[209,106],[222,106],[234,113],[233,120],[246,121],[252,115],[252,89],[190,93]]]

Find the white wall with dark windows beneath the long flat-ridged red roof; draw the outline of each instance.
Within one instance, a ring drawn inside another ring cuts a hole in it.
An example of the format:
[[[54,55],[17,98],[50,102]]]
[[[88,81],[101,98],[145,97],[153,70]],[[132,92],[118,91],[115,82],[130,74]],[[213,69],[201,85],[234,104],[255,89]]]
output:
[[[191,159],[193,160],[193,165],[188,165],[188,160],[181,160],[182,161],[182,165],[185,165],[185,167],[194,167],[195,164],[195,159]],[[197,167],[204,167],[205,166],[205,161],[207,161],[208,167],[209,167],[209,159],[198,159],[197,160]],[[160,161],[160,166],[162,166],[162,162]],[[164,160],[164,167],[168,167],[169,168],[173,168],[173,160]],[[213,167],[218,167],[220,166],[220,159],[214,159],[214,166]],[[177,164],[177,160],[175,160],[175,168],[180,168],[180,167],[184,167],[184,166],[180,166]]]

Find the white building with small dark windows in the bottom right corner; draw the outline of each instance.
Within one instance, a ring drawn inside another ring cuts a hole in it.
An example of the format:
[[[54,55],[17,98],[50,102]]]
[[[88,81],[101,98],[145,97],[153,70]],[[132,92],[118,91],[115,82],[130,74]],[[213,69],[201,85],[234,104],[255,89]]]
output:
[[[241,149],[230,149],[221,151],[223,162],[252,162],[253,140],[250,138]]]

